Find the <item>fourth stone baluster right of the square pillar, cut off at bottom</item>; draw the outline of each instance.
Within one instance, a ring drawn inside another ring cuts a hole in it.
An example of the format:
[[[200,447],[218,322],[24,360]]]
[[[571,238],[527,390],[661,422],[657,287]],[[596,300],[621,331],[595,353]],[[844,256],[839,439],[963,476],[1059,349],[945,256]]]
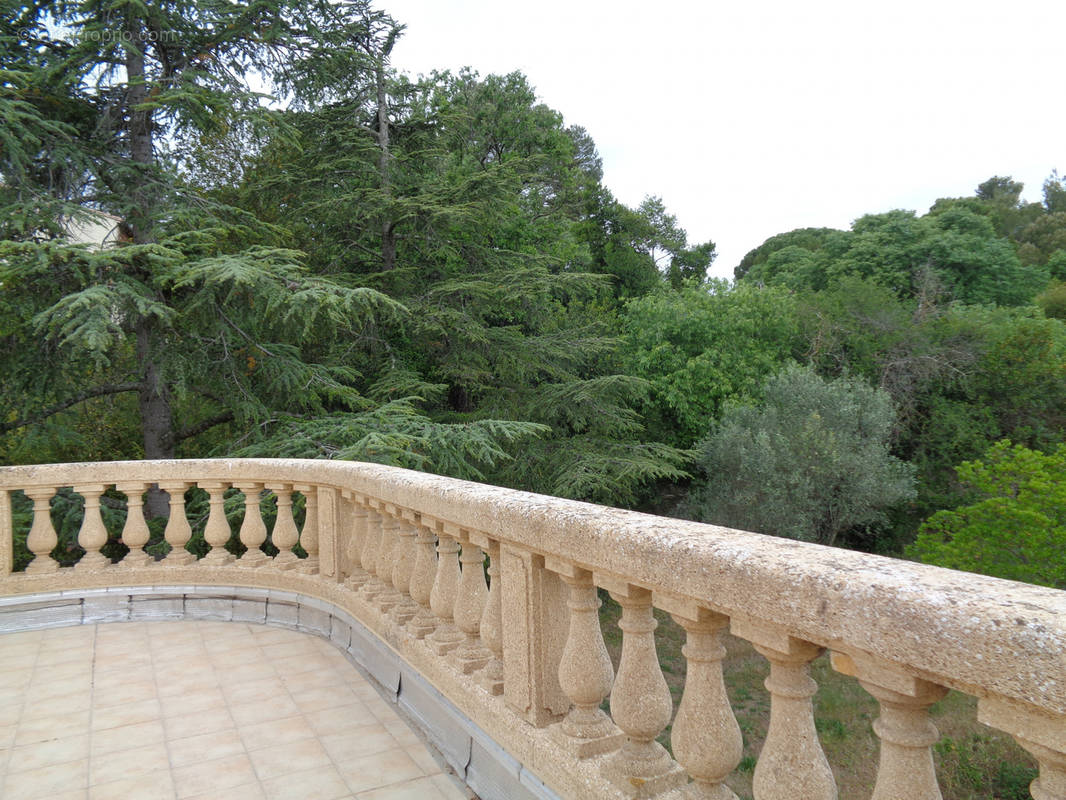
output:
[[[770,661],[770,730],[755,767],[756,800],[836,800],[837,784],[814,729],[810,662],[822,647],[776,626],[733,619],[732,633]]]

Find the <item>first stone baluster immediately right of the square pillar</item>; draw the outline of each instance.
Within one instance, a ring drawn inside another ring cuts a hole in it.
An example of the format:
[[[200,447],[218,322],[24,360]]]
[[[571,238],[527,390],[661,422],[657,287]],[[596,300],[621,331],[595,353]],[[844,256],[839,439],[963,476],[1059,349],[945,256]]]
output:
[[[603,644],[599,624],[602,604],[593,574],[555,558],[545,558],[545,569],[569,587],[569,629],[559,661],[559,685],[572,705],[566,719],[552,729],[553,735],[578,758],[609,753],[621,747],[626,735],[600,708],[611,693],[614,668]]]

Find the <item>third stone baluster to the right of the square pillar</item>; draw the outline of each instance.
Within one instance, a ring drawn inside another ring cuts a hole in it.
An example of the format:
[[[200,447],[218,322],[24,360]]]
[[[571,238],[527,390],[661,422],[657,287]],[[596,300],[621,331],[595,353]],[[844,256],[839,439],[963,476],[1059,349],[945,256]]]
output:
[[[671,611],[685,633],[681,649],[688,665],[684,694],[674,718],[671,747],[674,757],[694,781],[690,797],[737,800],[725,785],[744,749],[722,675],[722,659],[726,656],[722,631],[729,626],[729,618],[681,598],[657,595],[656,605]]]

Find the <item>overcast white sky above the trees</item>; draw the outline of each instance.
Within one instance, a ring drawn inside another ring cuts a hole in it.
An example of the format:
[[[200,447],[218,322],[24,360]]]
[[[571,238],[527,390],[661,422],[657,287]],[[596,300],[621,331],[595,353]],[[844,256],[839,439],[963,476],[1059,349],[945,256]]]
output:
[[[519,69],[717,275],[774,234],[1066,171],[1062,0],[378,0],[417,75]]]

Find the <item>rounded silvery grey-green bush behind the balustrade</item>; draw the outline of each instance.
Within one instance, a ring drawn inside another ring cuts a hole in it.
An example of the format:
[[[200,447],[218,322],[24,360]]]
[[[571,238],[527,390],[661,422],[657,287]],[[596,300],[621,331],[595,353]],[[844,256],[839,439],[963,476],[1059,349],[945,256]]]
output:
[[[914,470],[889,454],[888,395],[850,378],[788,367],[759,405],[732,405],[699,446],[705,478],[685,512],[763,533],[834,544],[914,497]]]

